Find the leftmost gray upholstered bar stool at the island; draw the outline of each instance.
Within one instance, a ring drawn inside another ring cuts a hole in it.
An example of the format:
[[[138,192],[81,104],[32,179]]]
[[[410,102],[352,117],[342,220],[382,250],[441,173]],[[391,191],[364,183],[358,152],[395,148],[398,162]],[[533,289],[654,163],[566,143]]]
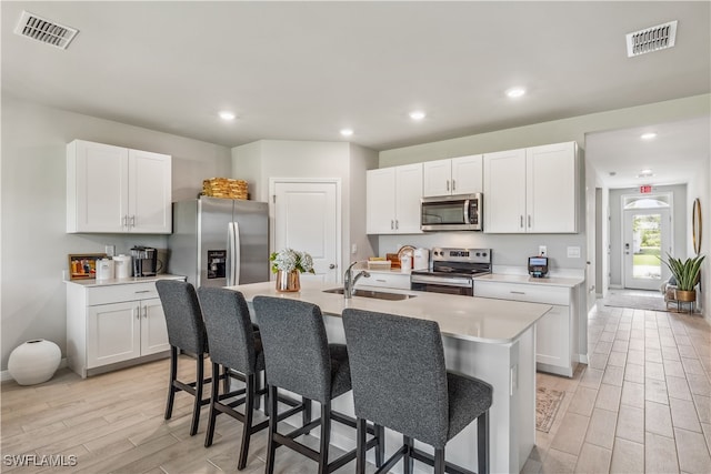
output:
[[[170,420],[172,416],[176,393],[181,391],[189,393],[194,397],[190,425],[190,435],[193,436],[198,432],[200,423],[200,409],[210,403],[210,399],[202,399],[203,384],[212,381],[204,379],[203,360],[208,353],[208,337],[198,294],[191,283],[179,280],[159,280],[156,282],[156,289],[166,314],[170,343],[170,382],[166,403],[166,420]],[[197,375],[194,382],[187,383],[178,380],[178,351],[180,350],[196,356]]]

